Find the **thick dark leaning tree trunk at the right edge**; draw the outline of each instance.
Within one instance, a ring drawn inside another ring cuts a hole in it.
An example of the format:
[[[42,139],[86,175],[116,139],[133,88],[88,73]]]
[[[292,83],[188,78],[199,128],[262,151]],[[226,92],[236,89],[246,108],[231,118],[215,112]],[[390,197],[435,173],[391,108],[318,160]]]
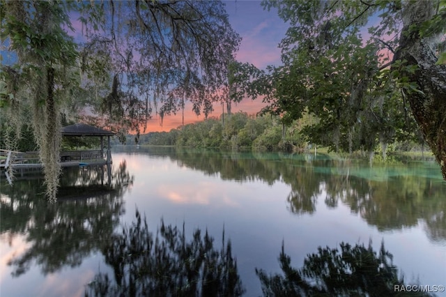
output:
[[[422,38],[419,31],[410,29],[431,20],[435,7],[431,1],[408,1],[402,13],[403,30],[394,60],[406,61],[405,66],[417,66],[415,73],[403,75],[416,82],[422,92],[406,95],[446,181],[446,65],[435,65],[438,57],[431,47],[432,38]]]

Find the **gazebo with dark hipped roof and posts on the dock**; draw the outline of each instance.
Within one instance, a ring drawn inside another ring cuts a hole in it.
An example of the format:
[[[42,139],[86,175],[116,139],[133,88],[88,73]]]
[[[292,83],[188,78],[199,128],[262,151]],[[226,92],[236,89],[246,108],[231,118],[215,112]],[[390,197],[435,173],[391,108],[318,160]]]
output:
[[[100,155],[104,156],[104,137],[107,136],[107,164],[112,162],[112,153],[110,152],[110,137],[116,135],[115,132],[104,130],[101,128],[86,125],[84,123],[76,123],[74,125],[67,125],[62,128],[62,136],[64,137],[100,137]],[[61,155],[61,157],[64,157]]]

